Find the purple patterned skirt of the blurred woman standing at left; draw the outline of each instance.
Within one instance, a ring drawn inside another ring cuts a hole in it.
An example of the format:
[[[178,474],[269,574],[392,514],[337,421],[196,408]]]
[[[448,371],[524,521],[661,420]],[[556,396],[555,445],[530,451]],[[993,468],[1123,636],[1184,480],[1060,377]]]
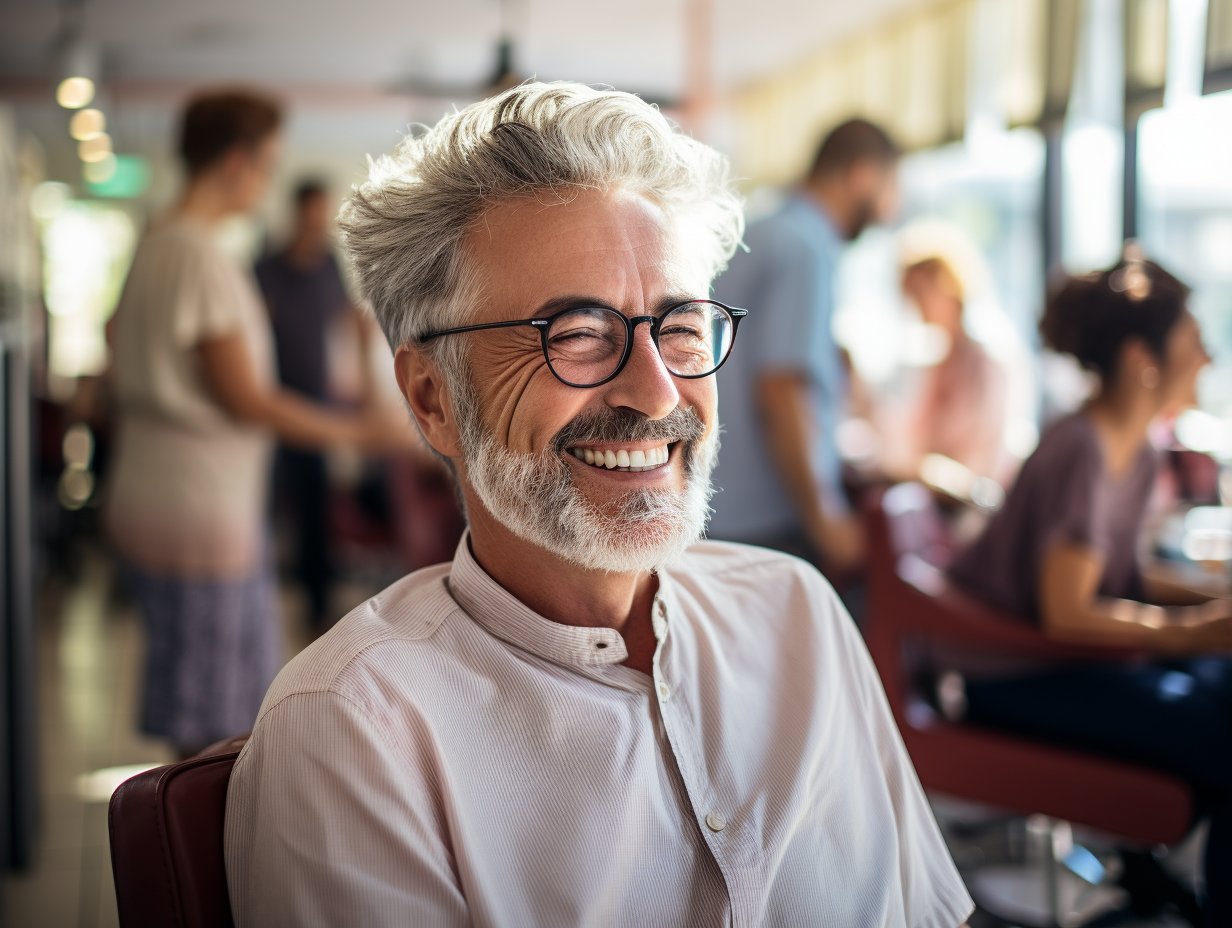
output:
[[[145,627],[142,731],[181,752],[250,731],[282,665],[272,571],[214,580],[129,564],[126,576]]]

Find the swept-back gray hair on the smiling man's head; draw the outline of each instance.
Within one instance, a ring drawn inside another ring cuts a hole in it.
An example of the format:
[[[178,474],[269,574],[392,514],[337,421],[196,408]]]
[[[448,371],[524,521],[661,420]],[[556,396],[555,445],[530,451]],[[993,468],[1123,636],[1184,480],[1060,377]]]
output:
[[[490,206],[567,200],[584,189],[642,193],[700,222],[713,277],[744,232],[727,159],[632,94],[527,81],[444,117],[368,161],[339,227],[355,276],[393,348],[464,324],[480,281],[462,243]]]

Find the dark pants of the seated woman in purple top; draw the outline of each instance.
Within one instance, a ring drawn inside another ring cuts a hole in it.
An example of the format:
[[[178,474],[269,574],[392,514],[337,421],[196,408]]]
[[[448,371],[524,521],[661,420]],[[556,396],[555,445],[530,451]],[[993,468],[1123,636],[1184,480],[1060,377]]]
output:
[[[967,702],[973,722],[1186,780],[1211,817],[1204,924],[1232,927],[1232,658],[973,680]]]

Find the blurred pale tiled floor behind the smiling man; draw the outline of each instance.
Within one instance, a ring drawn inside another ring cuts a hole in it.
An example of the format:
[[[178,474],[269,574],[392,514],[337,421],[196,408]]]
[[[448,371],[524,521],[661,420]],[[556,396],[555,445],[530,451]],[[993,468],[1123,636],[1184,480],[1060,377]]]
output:
[[[134,726],[140,684],[142,636],[137,616],[112,583],[107,557],[90,548],[71,583],[47,584],[39,598],[38,699],[42,780],[42,833],[33,868],[4,881],[5,926],[10,928],[112,928],[118,926],[107,848],[106,802],[83,797],[80,778],[100,768],[160,764],[172,758],[166,746],[144,738]],[[336,613],[371,595],[379,585],[338,592]],[[293,593],[283,593],[291,651],[307,645]],[[936,811],[946,826],[968,816],[961,804],[941,801]],[[949,828],[946,828],[949,831]],[[955,844],[960,863],[972,848]],[[984,853],[976,849],[982,859]],[[1193,869],[1195,849],[1186,852]],[[987,863],[987,861],[986,861]],[[965,871],[977,896],[1000,902],[1002,914],[1024,911],[1044,898],[1037,863],[994,861]],[[1074,884],[1077,877],[1068,877]],[[1072,897],[1092,887],[1069,886]],[[1039,897],[1039,898],[1036,898]],[[1018,907],[1015,910],[1015,906]],[[972,926],[1005,924],[977,916]],[[1138,923],[1135,928],[1179,928],[1177,919]],[[1130,928],[1125,926],[1124,928]]]

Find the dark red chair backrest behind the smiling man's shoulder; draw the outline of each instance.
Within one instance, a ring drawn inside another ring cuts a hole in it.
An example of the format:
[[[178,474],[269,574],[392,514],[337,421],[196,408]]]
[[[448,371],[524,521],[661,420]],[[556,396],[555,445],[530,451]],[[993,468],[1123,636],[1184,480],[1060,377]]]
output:
[[[111,797],[107,827],[121,928],[232,928],[223,817],[248,735],[147,770]]]

